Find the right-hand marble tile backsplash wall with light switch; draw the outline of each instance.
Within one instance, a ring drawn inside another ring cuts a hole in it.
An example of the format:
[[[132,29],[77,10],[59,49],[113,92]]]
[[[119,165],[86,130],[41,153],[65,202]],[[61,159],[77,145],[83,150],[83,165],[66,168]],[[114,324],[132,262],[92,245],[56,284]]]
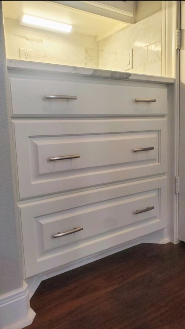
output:
[[[128,72],[161,76],[162,11],[99,41],[99,68],[125,71],[126,51],[133,49]]]

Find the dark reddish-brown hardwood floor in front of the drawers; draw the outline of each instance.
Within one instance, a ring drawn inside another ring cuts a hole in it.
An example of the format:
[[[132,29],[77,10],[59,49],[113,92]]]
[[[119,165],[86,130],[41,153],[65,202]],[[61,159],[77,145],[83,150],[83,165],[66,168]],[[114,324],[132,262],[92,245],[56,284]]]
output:
[[[185,329],[185,243],[140,244],[42,281],[28,329]]]

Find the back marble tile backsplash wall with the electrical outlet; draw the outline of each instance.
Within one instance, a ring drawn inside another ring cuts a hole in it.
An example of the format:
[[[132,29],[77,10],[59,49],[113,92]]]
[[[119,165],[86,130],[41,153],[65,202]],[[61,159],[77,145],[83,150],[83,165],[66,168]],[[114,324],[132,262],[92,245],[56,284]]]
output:
[[[19,48],[32,49],[33,61],[98,68],[96,37],[79,33],[60,34],[20,26],[4,18],[7,58],[20,59]]]

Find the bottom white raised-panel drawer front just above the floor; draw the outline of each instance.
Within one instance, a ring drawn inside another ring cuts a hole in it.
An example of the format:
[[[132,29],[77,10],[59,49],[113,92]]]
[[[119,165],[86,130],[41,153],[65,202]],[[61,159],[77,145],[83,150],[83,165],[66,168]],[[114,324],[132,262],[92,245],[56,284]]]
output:
[[[19,205],[26,276],[166,227],[166,193],[164,176]]]

